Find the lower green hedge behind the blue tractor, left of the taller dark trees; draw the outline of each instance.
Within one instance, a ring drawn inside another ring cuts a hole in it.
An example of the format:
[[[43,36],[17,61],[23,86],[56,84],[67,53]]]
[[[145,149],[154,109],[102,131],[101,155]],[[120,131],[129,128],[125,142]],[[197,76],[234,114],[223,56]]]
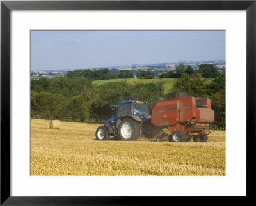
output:
[[[92,85],[84,77],[31,80],[31,117],[75,122],[104,122],[112,115],[110,105],[127,99],[150,102],[163,97],[163,84],[108,82]]]

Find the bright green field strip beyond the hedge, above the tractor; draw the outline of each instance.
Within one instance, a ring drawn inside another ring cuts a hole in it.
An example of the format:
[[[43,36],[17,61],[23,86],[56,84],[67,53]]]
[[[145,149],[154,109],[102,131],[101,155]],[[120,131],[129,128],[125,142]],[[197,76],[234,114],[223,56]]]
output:
[[[154,79],[140,79],[140,78],[118,78],[110,80],[95,80],[92,82],[93,85],[103,85],[108,82],[127,82],[128,84],[140,83],[157,83],[164,82],[164,94],[168,93],[172,89],[173,84],[177,79],[175,78],[154,78]]]

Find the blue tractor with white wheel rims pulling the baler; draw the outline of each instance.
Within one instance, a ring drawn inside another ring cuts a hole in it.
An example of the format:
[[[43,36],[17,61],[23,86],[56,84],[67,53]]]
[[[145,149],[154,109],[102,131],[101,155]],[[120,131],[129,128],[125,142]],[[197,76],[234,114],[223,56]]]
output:
[[[136,140],[142,133],[143,123],[151,121],[146,101],[129,100],[111,105],[112,110],[116,108],[116,115],[97,128],[96,140],[109,140],[109,136],[124,141]]]

